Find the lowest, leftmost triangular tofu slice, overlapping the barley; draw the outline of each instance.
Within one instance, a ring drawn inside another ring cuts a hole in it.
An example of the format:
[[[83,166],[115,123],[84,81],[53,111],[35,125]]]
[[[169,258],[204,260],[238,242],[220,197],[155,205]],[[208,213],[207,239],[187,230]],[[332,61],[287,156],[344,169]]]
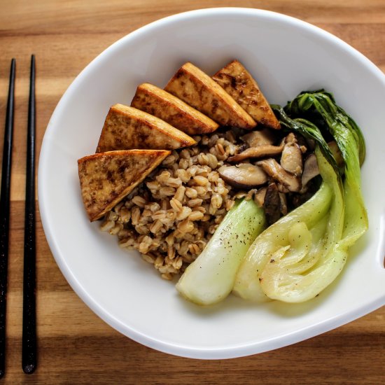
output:
[[[165,150],[108,151],[79,159],[81,194],[90,221],[104,216],[170,153]]]

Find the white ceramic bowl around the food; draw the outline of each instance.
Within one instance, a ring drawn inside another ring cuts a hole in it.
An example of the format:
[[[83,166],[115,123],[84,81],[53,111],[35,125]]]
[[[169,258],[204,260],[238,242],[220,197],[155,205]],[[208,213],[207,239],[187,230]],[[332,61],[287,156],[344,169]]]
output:
[[[190,61],[214,73],[239,59],[271,103],[324,87],[363,129],[363,194],[370,230],[339,279],[304,304],[256,306],[230,296],[203,308],[176,293],[137,253],[118,247],[85,215],[78,158],[94,152],[109,106],[137,85],[164,87]],[[318,335],[385,303],[385,76],[335,36],[278,13],[195,10],[147,25],[102,52],[73,81],[41,148],[38,199],[45,235],[67,281],[106,323],[141,344],[192,358],[232,358]]]

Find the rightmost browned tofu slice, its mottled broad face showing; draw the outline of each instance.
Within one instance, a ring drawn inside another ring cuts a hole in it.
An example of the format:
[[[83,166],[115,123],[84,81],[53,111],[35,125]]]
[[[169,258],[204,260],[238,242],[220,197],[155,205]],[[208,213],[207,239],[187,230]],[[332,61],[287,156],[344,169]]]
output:
[[[260,91],[257,82],[244,66],[234,60],[218,71],[213,79],[230,94],[257,122],[274,129],[281,128],[279,121]]]

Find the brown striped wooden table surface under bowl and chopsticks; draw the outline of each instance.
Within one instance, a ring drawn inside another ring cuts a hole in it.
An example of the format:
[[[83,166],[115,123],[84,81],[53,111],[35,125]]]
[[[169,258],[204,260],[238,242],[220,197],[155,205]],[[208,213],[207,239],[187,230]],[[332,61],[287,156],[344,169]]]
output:
[[[324,335],[246,358],[191,360],[141,346],[106,325],[71,290],[52,257],[39,218],[38,368],[31,375],[21,369],[25,143],[31,53],[36,55],[37,66],[38,153],[52,111],[73,78],[111,43],[148,22],[186,10],[218,6],[275,10],[330,31],[385,71],[384,0],[1,0],[0,4],[0,150],[10,59],[17,59],[7,370],[0,382],[385,384],[385,307]]]

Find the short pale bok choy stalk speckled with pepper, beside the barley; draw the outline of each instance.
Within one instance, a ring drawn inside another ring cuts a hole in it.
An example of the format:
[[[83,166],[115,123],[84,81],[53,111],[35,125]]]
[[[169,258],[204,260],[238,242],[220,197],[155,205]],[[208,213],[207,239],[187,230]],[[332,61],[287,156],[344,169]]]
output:
[[[220,302],[231,292],[248,247],[265,227],[265,212],[253,200],[236,202],[198,258],[176,284],[197,304]]]

